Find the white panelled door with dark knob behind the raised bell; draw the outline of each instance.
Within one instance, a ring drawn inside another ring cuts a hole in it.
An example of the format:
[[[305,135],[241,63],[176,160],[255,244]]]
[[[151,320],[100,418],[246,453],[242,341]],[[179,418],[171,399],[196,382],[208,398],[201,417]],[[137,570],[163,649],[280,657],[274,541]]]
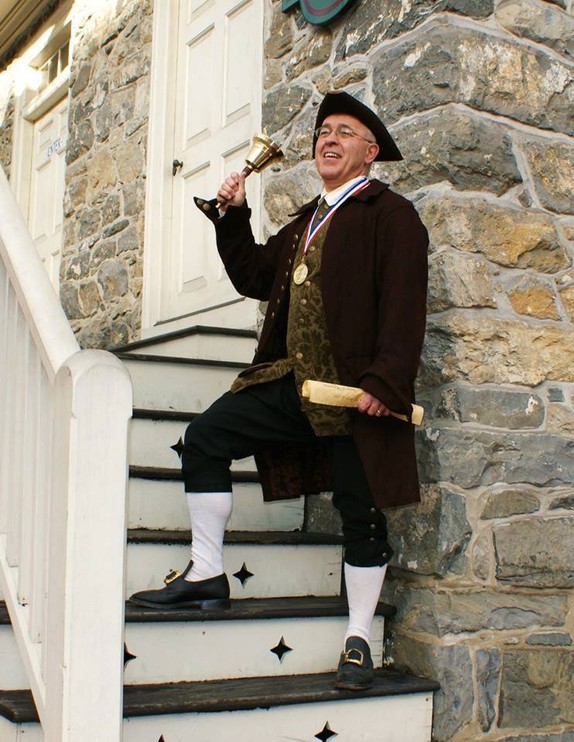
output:
[[[180,0],[173,129],[171,237],[164,245],[160,321],[239,299],[215,248],[212,224],[193,196],[215,196],[241,170],[260,125],[263,3]],[[248,194],[257,223],[259,179]]]

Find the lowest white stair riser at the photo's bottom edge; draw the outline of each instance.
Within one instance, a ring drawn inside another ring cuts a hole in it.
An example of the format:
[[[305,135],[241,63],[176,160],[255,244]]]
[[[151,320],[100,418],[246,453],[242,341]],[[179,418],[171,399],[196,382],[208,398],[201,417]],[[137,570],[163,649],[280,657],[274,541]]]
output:
[[[315,742],[328,722],[333,742],[428,742],[428,693],[273,706],[253,711],[177,714],[124,721],[123,742]]]

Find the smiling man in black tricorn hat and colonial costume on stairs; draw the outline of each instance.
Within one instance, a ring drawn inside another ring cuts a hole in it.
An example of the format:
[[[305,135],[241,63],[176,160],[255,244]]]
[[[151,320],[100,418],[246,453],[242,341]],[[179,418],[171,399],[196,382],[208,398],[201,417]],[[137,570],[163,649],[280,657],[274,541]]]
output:
[[[402,159],[379,117],[347,93],[319,106],[313,157],[323,191],[265,245],[249,224],[243,176],[232,173],[207,215],[235,288],[267,301],[252,365],[188,427],[182,455],[191,561],[147,607],[226,605],[223,535],[229,467],[254,455],[266,500],[333,491],[342,519],[349,622],[339,688],[374,678],[369,632],[392,555],[385,508],[419,499],[414,380],[423,342],[427,232],[413,204],[369,177]],[[360,387],[356,409],[315,405],[305,379]]]

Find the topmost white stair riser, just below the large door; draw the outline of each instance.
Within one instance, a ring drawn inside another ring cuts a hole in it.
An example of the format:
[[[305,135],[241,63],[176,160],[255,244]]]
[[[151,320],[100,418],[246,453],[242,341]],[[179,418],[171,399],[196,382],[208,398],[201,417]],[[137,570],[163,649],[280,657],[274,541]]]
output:
[[[206,358],[211,361],[238,361],[248,364],[255,353],[255,338],[228,335],[188,335],[150,343],[134,353],[174,358]]]

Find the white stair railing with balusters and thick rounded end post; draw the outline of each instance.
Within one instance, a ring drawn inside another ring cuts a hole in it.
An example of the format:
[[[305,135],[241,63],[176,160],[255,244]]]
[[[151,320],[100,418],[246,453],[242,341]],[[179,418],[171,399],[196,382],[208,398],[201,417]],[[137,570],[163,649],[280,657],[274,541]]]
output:
[[[121,739],[127,426],[0,169],[0,586],[45,742]]]

